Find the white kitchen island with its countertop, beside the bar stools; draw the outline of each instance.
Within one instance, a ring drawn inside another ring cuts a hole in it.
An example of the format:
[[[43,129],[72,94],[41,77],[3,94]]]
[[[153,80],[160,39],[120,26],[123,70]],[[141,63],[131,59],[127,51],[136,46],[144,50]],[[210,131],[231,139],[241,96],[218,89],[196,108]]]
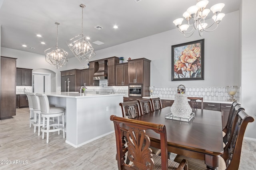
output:
[[[114,132],[110,115],[122,116],[123,94],[52,92],[50,104],[66,109],[66,143],[80,147]]]

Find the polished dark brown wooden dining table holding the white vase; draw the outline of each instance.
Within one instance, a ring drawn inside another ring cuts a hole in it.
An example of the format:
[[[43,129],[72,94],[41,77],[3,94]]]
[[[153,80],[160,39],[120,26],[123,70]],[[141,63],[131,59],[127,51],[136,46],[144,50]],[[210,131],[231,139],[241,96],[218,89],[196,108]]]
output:
[[[168,152],[204,160],[208,170],[218,169],[219,156],[224,152],[222,113],[193,109],[194,118],[180,121],[167,119],[165,115],[170,112],[170,107],[164,107],[134,119],[165,125]],[[126,135],[128,127],[120,125],[120,129]],[[150,145],[160,149],[160,135],[150,130],[146,134],[150,137]]]

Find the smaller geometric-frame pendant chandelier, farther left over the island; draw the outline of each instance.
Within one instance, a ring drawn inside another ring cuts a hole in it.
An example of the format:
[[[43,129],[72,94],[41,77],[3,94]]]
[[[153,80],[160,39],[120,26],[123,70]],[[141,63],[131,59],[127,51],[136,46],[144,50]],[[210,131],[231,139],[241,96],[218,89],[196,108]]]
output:
[[[55,68],[60,68],[68,63],[68,53],[64,51],[64,49],[58,48],[58,25],[60,23],[55,22],[57,25],[57,43],[55,47],[47,49],[44,51],[45,53],[45,60],[50,63]]]

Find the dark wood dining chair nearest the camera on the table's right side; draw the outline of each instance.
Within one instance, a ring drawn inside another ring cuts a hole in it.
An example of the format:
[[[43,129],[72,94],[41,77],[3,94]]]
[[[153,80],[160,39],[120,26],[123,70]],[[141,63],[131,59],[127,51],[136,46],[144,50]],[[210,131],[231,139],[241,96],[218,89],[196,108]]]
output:
[[[243,109],[240,109],[234,116],[232,123],[231,137],[224,148],[224,153],[219,157],[218,170],[238,170],[241,156],[244,132],[248,123],[253,122],[254,118],[247,115]],[[190,170],[205,170],[206,164],[203,160],[189,158],[183,155],[177,155],[174,161],[181,162],[186,159]]]

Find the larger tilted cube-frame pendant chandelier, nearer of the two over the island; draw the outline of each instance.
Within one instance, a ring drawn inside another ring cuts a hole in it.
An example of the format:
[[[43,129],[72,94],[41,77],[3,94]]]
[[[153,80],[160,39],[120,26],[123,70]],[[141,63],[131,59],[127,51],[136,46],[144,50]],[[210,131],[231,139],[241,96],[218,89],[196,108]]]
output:
[[[80,7],[82,8],[82,33],[68,40],[67,44],[75,57],[81,63],[83,63],[84,61],[87,61],[94,57],[96,54],[94,52],[94,49],[92,48],[90,41],[88,41],[86,36],[84,36],[83,34],[83,8],[85,7],[85,5],[80,4]]]

